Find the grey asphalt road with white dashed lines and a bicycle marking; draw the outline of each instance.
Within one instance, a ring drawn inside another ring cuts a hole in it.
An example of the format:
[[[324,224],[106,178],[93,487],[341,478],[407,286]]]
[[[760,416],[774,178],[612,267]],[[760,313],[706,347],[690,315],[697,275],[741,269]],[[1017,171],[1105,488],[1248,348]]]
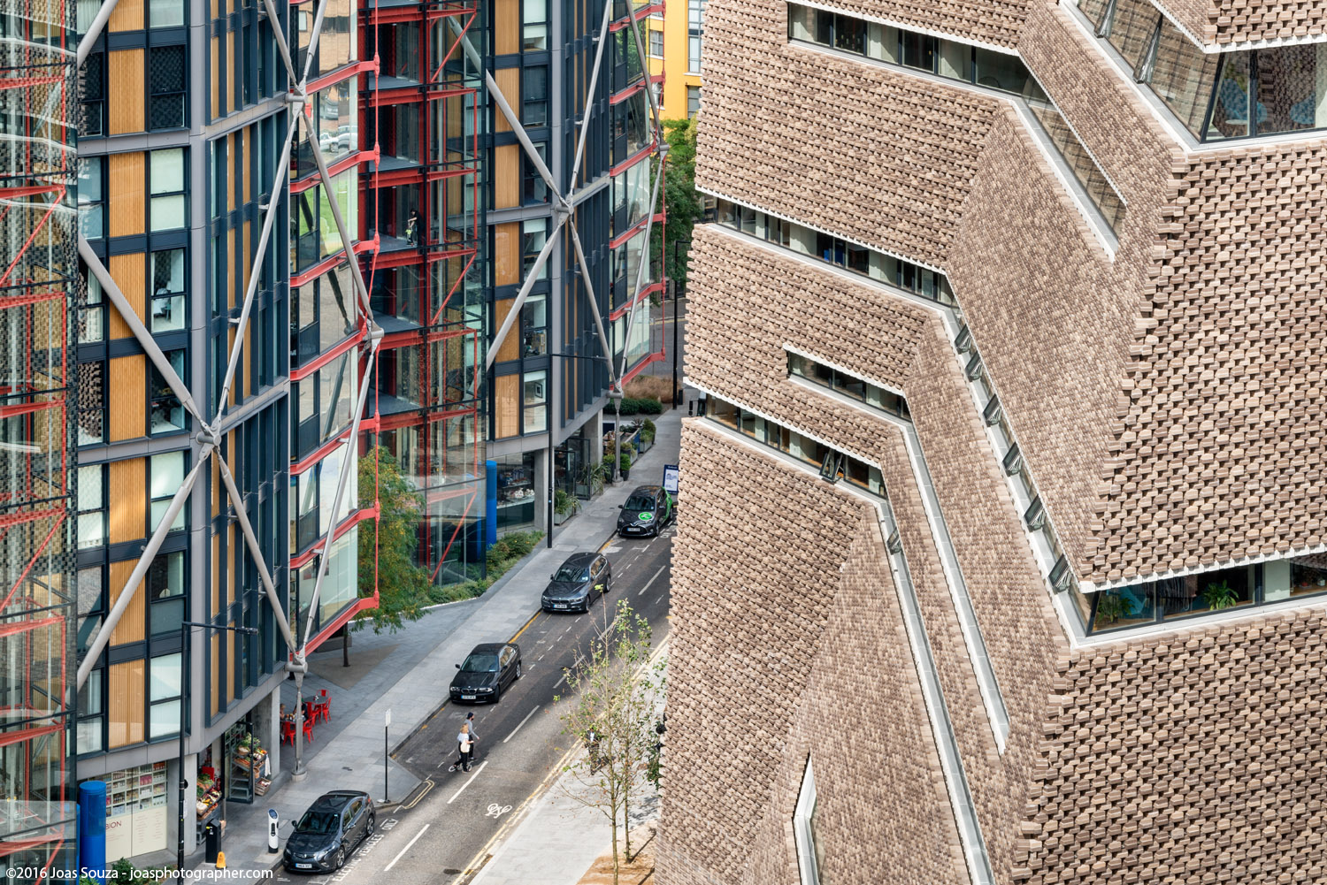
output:
[[[390,881],[393,885],[459,885],[472,878],[496,847],[503,825],[559,774],[572,748],[561,734],[555,695],[567,693],[564,667],[585,653],[606,625],[617,600],[649,618],[653,644],[667,633],[670,551],[675,524],[657,539],[614,537],[602,549],[613,564],[613,581],[588,614],[532,613],[520,630],[523,677],[496,705],[446,703],[399,744],[393,758],[423,779],[390,813],[380,811],[378,832],[333,874],[297,876],[275,869],[277,881],[305,885]],[[476,636],[492,642],[511,637]],[[459,661],[458,661],[459,663]],[[451,681],[455,670],[439,673]],[[471,771],[454,770],[456,732],[466,713],[475,711],[478,758]],[[568,835],[575,839],[575,835]]]

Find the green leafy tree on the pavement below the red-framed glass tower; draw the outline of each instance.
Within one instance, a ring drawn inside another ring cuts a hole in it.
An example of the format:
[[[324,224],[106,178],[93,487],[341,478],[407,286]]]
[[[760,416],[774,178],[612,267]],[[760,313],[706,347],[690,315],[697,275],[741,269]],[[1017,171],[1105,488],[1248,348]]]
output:
[[[378,515],[378,608],[365,612],[361,624],[395,632],[406,621],[418,621],[429,598],[429,572],[415,565],[423,495],[401,475],[397,459],[377,448],[377,468],[372,455],[360,459],[360,507],[373,507],[374,479],[382,511]],[[374,475],[377,474],[377,475]],[[372,523],[360,525],[360,596],[373,596]]]

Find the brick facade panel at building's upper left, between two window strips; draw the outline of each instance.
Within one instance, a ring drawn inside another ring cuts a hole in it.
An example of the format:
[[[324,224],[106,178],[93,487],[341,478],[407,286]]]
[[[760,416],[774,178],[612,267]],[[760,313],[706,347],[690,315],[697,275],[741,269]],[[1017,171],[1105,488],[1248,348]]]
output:
[[[697,184],[937,265],[997,102],[788,45],[787,4],[706,11]]]

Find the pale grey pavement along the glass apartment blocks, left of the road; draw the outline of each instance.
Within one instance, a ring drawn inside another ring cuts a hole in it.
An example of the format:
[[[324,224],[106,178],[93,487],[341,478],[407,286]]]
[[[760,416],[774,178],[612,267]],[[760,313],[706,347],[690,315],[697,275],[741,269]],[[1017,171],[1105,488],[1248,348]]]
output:
[[[447,699],[453,665],[464,659],[476,642],[507,641],[520,630],[539,610],[539,597],[548,584],[548,575],[563,559],[572,551],[598,549],[616,529],[618,506],[626,502],[632,490],[661,482],[664,464],[678,460],[683,414],[682,409],[671,409],[654,417],[654,446],[632,466],[632,480],[609,486],[597,499],[584,503],[580,513],[553,528],[551,549],[540,541],[536,551],[512,567],[482,597],[439,606],[397,633],[354,633],[350,647],[354,666],[349,669],[354,673],[341,666],[340,645],[309,655],[305,697],[326,689],[333,698],[332,719],[314,728],[312,746],[305,744],[308,778],[300,783],[289,779],[295,754],[291,747],[283,746],[281,770],[267,795],[257,797],[252,805],[227,804],[222,844],[227,868],[269,869],[276,861],[279,856],[267,851],[268,808],[280,815],[280,841],[284,845],[292,821],[328,789],[362,789],[374,800],[381,800],[387,710],[391,711],[391,727],[386,743],[394,750]],[[293,681],[283,685],[281,702],[293,706]],[[389,799],[395,801],[405,799],[419,784],[395,762],[389,764],[387,782]],[[606,825],[605,821],[605,833]],[[594,853],[579,870],[584,872],[604,843],[598,839],[576,841],[593,847],[591,851]],[[211,866],[202,862],[202,852],[192,860],[195,869]]]

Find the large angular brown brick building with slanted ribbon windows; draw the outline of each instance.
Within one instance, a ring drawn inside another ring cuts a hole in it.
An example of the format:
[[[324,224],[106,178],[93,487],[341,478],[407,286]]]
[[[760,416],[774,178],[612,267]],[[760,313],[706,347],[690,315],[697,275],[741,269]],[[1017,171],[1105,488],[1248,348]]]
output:
[[[1327,878],[1323,9],[709,4],[661,885]]]

